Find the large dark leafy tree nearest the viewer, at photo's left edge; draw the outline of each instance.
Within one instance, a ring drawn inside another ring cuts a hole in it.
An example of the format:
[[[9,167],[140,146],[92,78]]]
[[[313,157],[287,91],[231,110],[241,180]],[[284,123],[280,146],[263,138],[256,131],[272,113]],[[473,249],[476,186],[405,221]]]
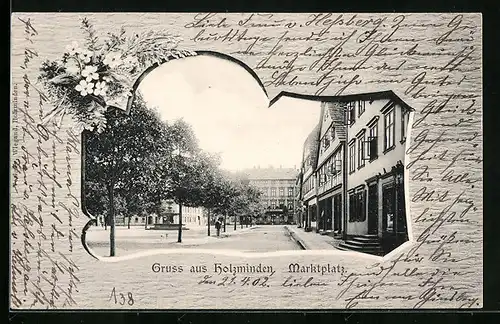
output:
[[[160,171],[171,145],[158,113],[148,109],[140,97],[128,115],[109,109],[106,120],[102,133],[84,132],[85,196],[94,200],[96,195],[106,197],[102,204],[106,208],[88,208],[89,212],[105,209],[111,229],[110,256],[114,256],[117,197],[125,200],[130,221],[131,213],[140,212],[144,202],[164,194],[167,178]]]

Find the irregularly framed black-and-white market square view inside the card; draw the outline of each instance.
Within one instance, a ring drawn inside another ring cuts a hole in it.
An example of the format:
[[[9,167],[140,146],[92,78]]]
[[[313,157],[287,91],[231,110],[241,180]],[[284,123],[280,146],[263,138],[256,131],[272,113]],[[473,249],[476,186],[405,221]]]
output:
[[[210,53],[143,76],[128,114],[106,112],[108,129],[84,135],[90,250],[383,256],[408,241],[413,109],[392,91],[282,97],[269,108],[260,87],[243,63]]]

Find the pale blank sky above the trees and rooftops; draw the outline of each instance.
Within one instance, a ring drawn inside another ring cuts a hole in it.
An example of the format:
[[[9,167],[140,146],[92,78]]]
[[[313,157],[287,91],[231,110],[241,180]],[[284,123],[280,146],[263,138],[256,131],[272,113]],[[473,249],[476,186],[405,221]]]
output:
[[[257,81],[240,65],[199,55],[149,73],[139,92],[167,122],[191,124],[202,149],[219,153],[231,171],[299,168],[302,145],[319,121],[320,102],[282,97],[269,108]]]

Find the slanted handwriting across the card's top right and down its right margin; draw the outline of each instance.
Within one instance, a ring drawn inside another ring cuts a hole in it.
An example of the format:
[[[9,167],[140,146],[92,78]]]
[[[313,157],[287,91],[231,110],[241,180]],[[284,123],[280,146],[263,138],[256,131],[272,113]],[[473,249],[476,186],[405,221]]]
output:
[[[236,48],[231,54],[271,93],[390,89],[415,108],[405,162],[413,245],[392,261],[347,274],[337,295],[347,308],[396,300],[414,308],[480,304],[481,279],[470,268],[482,255],[481,26],[475,18],[204,13],[184,26],[197,47]]]

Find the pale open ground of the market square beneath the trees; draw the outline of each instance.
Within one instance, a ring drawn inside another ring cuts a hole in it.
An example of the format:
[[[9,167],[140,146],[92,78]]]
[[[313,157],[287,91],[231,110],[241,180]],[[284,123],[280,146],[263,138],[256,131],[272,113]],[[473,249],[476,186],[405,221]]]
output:
[[[145,230],[143,227],[116,227],[116,254],[123,256],[150,249],[166,248],[200,248],[225,249],[241,252],[272,252],[300,250],[300,246],[289,236],[282,225],[259,225],[234,230],[226,226],[219,237],[211,227],[207,236],[207,228],[198,226],[182,231],[182,243],[177,243],[176,230]],[[100,256],[109,255],[109,228],[92,227],[87,232],[88,246]]]

